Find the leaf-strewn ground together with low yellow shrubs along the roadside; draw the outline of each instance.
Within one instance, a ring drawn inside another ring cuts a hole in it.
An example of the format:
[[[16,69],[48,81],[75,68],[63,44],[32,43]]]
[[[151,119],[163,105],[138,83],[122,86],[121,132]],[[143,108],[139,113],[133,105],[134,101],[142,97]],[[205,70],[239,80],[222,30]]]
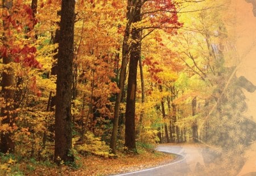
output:
[[[170,154],[156,152],[154,148],[154,144],[143,140],[137,141],[135,152],[127,153],[125,148],[119,147],[117,154],[112,154],[105,141],[92,132],[86,132],[84,141],[78,137],[73,139],[71,152],[75,162],[56,165],[52,152],[51,157],[41,159],[23,156],[18,152],[0,153],[0,175],[109,175],[150,168],[172,160]]]

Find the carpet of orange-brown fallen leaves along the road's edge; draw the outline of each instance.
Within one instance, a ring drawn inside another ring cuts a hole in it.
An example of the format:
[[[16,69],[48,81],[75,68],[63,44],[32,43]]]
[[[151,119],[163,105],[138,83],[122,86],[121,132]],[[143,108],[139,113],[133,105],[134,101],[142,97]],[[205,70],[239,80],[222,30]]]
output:
[[[26,175],[112,175],[129,171],[152,168],[167,164],[174,160],[175,156],[157,151],[147,151],[142,154],[119,153],[117,158],[104,158],[94,155],[80,156],[77,163],[80,168],[74,170],[68,166],[59,168],[37,167]]]

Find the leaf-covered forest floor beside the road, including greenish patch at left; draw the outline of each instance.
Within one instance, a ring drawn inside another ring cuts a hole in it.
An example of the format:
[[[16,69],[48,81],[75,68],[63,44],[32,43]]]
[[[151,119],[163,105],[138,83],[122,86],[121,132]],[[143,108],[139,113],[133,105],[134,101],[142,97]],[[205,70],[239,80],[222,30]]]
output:
[[[88,154],[78,156],[75,166],[40,164],[36,161],[14,163],[7,175],[112,175],[152,168],[175,159],[173,154],[144,150],[139,154],[118,153],[117,158],[105,158]],[[1,173],[1,168],[0,168]]]

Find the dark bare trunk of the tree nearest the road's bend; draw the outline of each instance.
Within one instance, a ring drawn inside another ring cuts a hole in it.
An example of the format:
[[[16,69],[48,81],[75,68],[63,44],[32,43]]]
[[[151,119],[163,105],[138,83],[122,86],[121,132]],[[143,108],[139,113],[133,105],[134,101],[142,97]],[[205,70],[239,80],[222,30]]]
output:
[[[135,7],[134,23],[141,21],[141,1]],[[141,28],[133,28],[131,38],[130,64],[125,111],[125,146],[129,151],[136,151],[135,144],[135,99],[137,90],[137,68],[141,57]]]

